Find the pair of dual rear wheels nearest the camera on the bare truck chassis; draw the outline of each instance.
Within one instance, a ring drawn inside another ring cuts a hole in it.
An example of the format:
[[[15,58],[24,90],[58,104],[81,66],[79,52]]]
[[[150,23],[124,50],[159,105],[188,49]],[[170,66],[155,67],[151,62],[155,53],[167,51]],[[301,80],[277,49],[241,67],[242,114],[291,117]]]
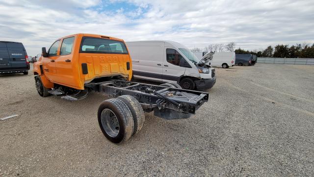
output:
[[[128,141],[145,121],[140,103],[131,95],[107,99],[98,108],[98,122],[105,137],[115,144]]]

